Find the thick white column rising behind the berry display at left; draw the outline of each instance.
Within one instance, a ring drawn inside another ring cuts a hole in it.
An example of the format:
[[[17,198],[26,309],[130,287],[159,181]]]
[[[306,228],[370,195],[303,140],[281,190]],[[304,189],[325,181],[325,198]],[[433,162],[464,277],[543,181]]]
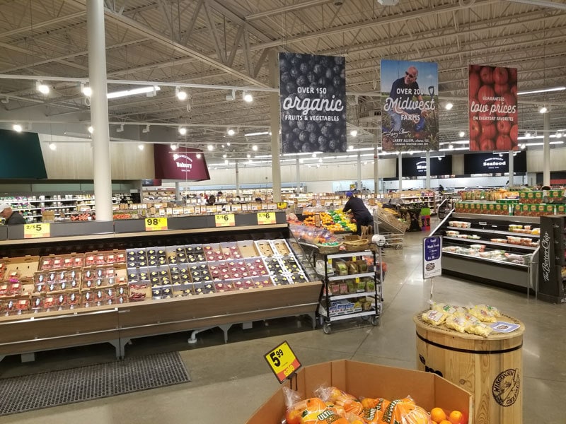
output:
[[[112,220],[112,175],[110,167],[110,132],[106,98],[106,44],[103,1],[86,2],[88,35],[88,78],[93,126],[93,182],[96,220]]]

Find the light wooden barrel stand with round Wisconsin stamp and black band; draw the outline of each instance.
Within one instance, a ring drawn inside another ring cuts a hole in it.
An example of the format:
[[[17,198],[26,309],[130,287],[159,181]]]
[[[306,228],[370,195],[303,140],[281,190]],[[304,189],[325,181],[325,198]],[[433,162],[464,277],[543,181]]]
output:
[[[482,337],[433,326],[421,316],[419,312],[413,317],[418,369],[434,372],[473,394],[473,417],[468,423],[521,424],[524,324],[505,315],[500,321],[519,328]]]

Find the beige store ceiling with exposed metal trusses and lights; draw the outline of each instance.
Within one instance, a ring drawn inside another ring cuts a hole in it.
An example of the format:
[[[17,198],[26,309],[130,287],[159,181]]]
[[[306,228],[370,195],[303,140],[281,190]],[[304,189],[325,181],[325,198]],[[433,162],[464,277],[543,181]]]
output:
[[[389,3],[395,5],[383,5]],[[104,4],[108,91],[140,83],[160,88],[151,97],[108,100],[111,138],[177,141],[204,151],[212,144],[211,159],[271,153],[269,134],[246,134],[270,129],[270,64],[275,68],[270,57],[277,52],[346,57],[348,127],[359,130],[357,137],[348,135],[348,143],[355,148],[380,139],[381,59],[439,64],[441,106],[454,104],[439,110],[444,148],[467,146],[462,141],[468,129],[468,64],[518,68],[520,91],[566,85],[562,0]],[[54,141],[64,133],[88,139],[90,111],[79,83],[88,78],[86,18],[86,0],[1,2],[0,126],[19,122],[29,131],[52,134]],[[40,76],[51,88],[47,95],[36,90]],[[186,88],[188,100],[178,100],[176,86]],[[243,88],[249,88],[253,102],[243,101]],[[235,99],[227,100],[232,94]],[[561,90],[519,96],[521,130],[543,134],[540,105],[550,108],[550,129],[565,129],[566,90]],[[177,133],[181,125],[185,136]],[[236,134],[227,136],[228,129]],[[460,131],[466,131],[462,138]],[[254,144],[258,151],[251,150]]]

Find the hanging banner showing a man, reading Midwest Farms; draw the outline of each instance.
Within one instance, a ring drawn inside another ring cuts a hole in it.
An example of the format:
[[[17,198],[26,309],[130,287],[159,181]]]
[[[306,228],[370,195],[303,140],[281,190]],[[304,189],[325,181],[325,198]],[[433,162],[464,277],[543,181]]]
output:
[[[437,151],[438,104],[438,64],[382,60],[383,151]]]

